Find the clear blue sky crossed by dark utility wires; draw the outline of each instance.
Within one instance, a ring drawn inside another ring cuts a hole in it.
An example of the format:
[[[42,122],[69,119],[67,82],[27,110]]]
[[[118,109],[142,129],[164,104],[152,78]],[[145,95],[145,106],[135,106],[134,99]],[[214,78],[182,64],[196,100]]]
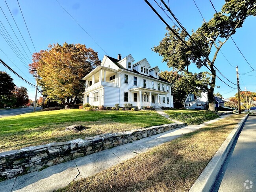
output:
[[[154,45],[158,45],[161,39],[163,39],[166,30],[165,24],[155,15],[155,13],[148,7],[144,0],[58,0],[59,3],[65,7],[65,9],[77,20],[77,22],[93,37],[93,39],[102,47],[102,49],[87,35],[79,26],[72,20],[72,18],[59,6],[55,0],[35,1],[35,0],[19,0],[22,13],[28,25],[28,29],[32,36],[33,42],[37,52],[39,50],[45,50],[48,44],[63,42],[67,43],[80,43],[85,44],[87,48],[93,48],[98,52],[99,59],[107,53],[111,57],[117,57],[121,54],[122,57],[132,54],[135,61],[139,61],[143,58],[147,58],[151,66],[158,65],[160,70],[171,70],[166,63],[162,63],[162,58],[151,50]],[[15,21],[22,33],[24,40],[26,41],[30,52],[35,52],[32,42],[26,30],[22,15],[19,10],[17,0],[6,0]],[[160,0],[158,0],[160,2]],[[167,2],[167,1],[166,1]],[[202,15],[206,21],[210,20],[215,13],[208,0],[195,0]],[[219,11],[224,4],[224,0],[212,0],[215,8]],[[160,15],[173,26],[173,23],[165,14],[157,7],[154,1],[150,0],[150,3],[158,10]],[[19,34],[17,27],[9,13],[9,10],[4,1],[0,2],[0,6],[3,9],[6,17],[8,18],[13,30],[19,38],[26,54],[31,58],[31,54],[28,51],[22,37]],[[170,1],[170,8],[180,20],[187,31],[191,32],[192,29],[196,30],[202,24],[202,17],[198,12],[193,0],[173,0]],[[16,39],[13,31],[11,30],[6,18],[0,10],[0,20],[13,38],[17,46],[22,50]],[[233,39],[239,46],[241,52],[245,55],[245,58],[249,61],[253,68],[255,65],[255,51],[256,39],[256,19],[254,17],[248,17],[243,24],[243,28],[237,30],[237,33],[233,35]],[[4,41],[0,35],[0,49],[19,67],[17,68],[1,51],[0,58],[5,61],[9,66],[13,68],[24,79],[27,79],[31,83],[35,84],[35,80],[31,74],[29,74],[27,68],[21,64],[18,57],[13,53],[8,44]],[[106,53],[105,53],[105,52]],[[223,54],[228,61],[233,65],[239,66],[239,72],[245,73],[250,71],[250,66],[239,54],[237,48],[231,40],[228,40],[222,48]],[[25,55],[25,54],[24,54]],[[26,57],[26,55],[25,55]],[[30,60],[31,61],[31,60]],[[236,69],[230,66],[221,53],[219,53],[215,66],[230,79],[230,81],[236,83]],[[26,61],[28,65],[28,61]],[[198,72],[193,64],[189,68],[192,72]],[[17,86],[24,86],[28,89],[29,98],[34,100],[35,89],[24,81],[20,80],[17,76],[12,74],[3,65],[0,65],[0,70],[5,70],[14,79],[14,83]],[[207,70],[202,68],[202,71]],[[22,73],[23,72],[23,73]],[[217,73],[219,77],[220,74]],[[244,90],[256,91],[256,72],[251,72],[246,76],[243,75],[240,78],[240,87]],[[221,77],[223,80],[224,78]],[[228,83],[232,85],[231,83]],[[215,92],[223,94],[224,98],[234,96],[236,90],[228,87],[217,79]],[[232,85],[232,87],[236,87]],[[233,91],[232,91],[233,90]],[[231,91],[231,92],[230,92]],[[229,92],[229,93],[228,93]],[[38,95],[38,97],[40,94]]]

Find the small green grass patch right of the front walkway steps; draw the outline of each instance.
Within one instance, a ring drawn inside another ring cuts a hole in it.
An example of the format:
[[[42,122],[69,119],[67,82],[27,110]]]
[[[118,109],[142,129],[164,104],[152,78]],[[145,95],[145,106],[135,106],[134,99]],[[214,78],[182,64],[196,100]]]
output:
[[[198,125],[219,118],[219,115],[211,111],[169,110],[165,113],[169,114],[170,118],[185,122],[187,125]]]

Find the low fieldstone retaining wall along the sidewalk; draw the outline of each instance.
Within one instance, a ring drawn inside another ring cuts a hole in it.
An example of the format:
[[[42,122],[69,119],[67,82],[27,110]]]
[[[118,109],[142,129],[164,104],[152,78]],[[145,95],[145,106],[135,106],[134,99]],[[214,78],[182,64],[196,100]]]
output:
[[[2,152],[0,153],[0,177],[10,179],[17,175],[41,170],[47,166],[113,148],[185,125],[166,124]]]

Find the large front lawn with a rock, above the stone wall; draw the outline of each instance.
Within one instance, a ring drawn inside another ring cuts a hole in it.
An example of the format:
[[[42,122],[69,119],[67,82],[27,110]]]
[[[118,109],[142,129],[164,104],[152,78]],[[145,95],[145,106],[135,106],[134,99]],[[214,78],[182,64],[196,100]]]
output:
[[[156,111],[42,111],[0,118],[0,152],[171,123]],[[65,127],[88,127],[74,133]]]

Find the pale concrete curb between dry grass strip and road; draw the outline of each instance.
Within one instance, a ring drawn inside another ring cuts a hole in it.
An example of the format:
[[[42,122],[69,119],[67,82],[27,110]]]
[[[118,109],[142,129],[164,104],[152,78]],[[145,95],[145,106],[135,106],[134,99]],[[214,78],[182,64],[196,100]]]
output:
[[[226,140],[223,142],[219,150],[215,153],[211,161],[208,163],[206,168],[197,178],[197,181],[190,188],[189,192],[199,192],[199,191],[210,191],[211,186],[215,182],[216,176],[219,174],[219,170],[226,159],[226,156],[236,138],[237,133],[241,129],[245,120],[247,120],[249,114],[247,114],[231,131]]]

